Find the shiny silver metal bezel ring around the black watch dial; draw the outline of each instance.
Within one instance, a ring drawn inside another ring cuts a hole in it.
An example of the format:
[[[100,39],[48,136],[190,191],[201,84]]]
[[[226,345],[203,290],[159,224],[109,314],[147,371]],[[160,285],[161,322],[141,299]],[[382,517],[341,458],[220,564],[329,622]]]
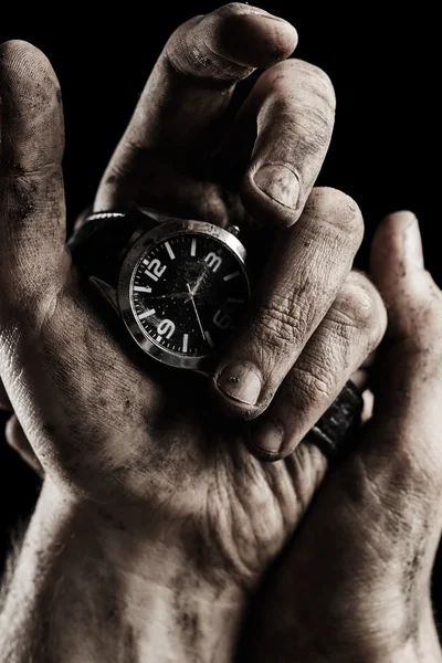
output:
[[[159,223],[156,228],[143,233],[129,249],[119,271],[117,302],[127,330],[147,355],[168,366],[208,372],[214,362],[214,357],[217,355],[215,350],[209,355],[187,357],[167,348],[162,348],[147,336],[147,333],[137,322],[133,308],[131,283],[143,255],[155,244],[169,238],[187,233],[206,234],[227,245],[242,265],[250,296],[250,281],[245,267],[246,249],[242,242],[228,230],[219,228],[218,225],[212,225],[206,221],[176,219]]]

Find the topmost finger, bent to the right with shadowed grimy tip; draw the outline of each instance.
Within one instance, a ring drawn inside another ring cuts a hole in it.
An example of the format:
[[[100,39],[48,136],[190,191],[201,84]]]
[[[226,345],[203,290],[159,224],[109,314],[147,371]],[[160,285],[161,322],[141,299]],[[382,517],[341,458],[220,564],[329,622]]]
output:
[[[156,63],[130,124],[99,187],[95,208],[143,199],[167,207],[189,190],[189,166],[200,171],[224,131],[235,84],[256,67],[287,57],[297,34],[262,9],[232,2],[176,30]],[[200,173],[201,179],[204,172]],[[208,193],[210,196],[211,192]],[[170,204],[170,201],[169,201]]]

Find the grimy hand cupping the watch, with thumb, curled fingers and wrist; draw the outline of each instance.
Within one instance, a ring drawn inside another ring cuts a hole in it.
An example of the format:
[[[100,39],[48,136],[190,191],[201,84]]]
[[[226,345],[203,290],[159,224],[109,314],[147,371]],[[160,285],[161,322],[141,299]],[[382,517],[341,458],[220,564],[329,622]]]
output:
[[[50,591],[44,582],[53,587],[63,576],[57,624],[70,623],[82,646],[93,646],[90,623],[72,597],[94,597],[103,609],[92,572],[98,558],[98,589],[105,582],[114,602],[124,594],[133,632],[137,611],[160,601],[164,625],[154,634],[146,620],[137,627],[147,651],[158,651],[158,633],[170,633],[166,622],[178,606],[201,624],[197,634],[182,629],[179,645],[168,639],[180,660],[185,650],[208,645],[204,619],[223,634],[217,660],[229,660],[249,592],[327,467],[315,446],[301,442],[383,334],[381,298],[350,272],[360,211],[339,191],[312,191],[335,101],[317,67],[280,62],[295,42],[288,23],[239,4],[178,29],[95,201],[96,209],[139,203],[234,221],[252,253],[271,246],[243,326],[213,376],[212,397],[230,419],[212,406],[200,376],[146,370],[123,326],[109,328],[83,291],[65,250],[57,82],[31,45],[2,48],[0,370],[45,472],[15,581],[27,596],[42,597]],[[255,67],[266,71],[224,127],[234,84]],[[256,419],[252,442],[244,419]],[[261,457],[286,460],[263,464],[245,444]],[[66,572],[71,565],[75,573]],[[108,613],[99,614],[108,623]],[[112,638],[122,636],[126,621],[108,628]],[[60,628],[65,639],[70,632]],[[113,655],[112,638],[96,645],[101,660]]]

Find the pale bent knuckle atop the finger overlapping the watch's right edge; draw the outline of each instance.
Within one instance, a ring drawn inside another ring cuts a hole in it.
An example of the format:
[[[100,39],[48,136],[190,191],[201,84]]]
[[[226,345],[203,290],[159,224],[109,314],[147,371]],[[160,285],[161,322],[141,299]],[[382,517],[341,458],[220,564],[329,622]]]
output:
[[[359,245],[364,235],[364,219],[359,206],[350,196],[330,187],[316,187],[305,211],[318,221],[332,224]]]

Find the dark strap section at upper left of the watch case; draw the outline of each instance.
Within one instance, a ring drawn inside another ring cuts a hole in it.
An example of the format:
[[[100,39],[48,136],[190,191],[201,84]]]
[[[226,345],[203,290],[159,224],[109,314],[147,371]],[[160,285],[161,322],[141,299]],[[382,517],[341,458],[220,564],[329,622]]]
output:
[[[72,259],[85,276],[116,287],[119,270],[133,238],[157,225],[138,210],[94,212],[67,241]]]

